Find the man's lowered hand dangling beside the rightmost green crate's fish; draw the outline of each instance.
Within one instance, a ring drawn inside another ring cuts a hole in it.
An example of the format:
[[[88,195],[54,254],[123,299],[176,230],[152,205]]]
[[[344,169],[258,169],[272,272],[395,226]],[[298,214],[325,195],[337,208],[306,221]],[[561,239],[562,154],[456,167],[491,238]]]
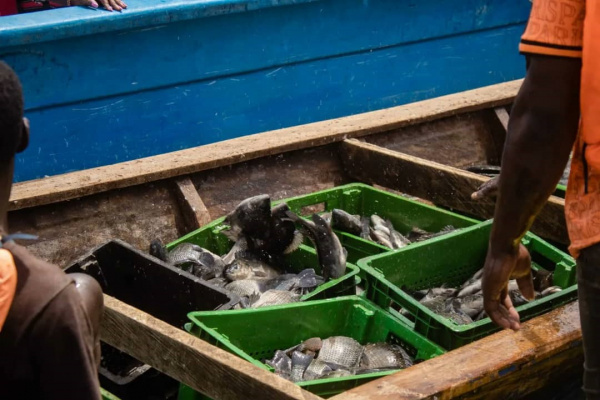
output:
[[[505,329],[520,328],[519,313],[508,296],[508,281],[516,279],[521,294],[533,300],[531,256],[522,244],[514,253],[493,254],[490,249],[483,269],[483,305],[487,315]]]

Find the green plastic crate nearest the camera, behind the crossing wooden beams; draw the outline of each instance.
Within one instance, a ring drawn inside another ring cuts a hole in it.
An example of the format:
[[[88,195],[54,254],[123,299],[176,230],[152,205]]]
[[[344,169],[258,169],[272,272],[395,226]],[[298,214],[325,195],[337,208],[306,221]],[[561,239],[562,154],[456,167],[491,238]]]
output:
[[[192,334],[269,371],[272,368],[261,360],[315,336],[349,336],[361,344],[395,343],[416,360],[444,353],[442,348],[411,331],[389,313],[357,296],[260,309],[193,312],[188,316],[192,324],[187,328]],[[299,385],[319,396],[329,397],[393,372],[319,379]],[[180,400],[201,398],[205,397],[189,388],[181,388]]]

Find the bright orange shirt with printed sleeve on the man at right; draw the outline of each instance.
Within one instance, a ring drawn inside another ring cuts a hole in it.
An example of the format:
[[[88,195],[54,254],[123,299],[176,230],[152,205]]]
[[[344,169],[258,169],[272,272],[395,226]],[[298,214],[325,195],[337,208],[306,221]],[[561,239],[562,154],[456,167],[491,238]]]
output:
[[[582,59],[581,122],[565,216],[574,257],[600,242],[600,5],[598,0],[533,0],[522,53]]]

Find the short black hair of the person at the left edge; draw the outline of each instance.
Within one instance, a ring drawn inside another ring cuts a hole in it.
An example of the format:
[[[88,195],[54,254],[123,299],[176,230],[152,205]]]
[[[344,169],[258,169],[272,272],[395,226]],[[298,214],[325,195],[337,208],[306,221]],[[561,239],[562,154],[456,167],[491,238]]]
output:
[[[23,90],[15,71],[0,61],[0,161],[14,157],[23,129]]]

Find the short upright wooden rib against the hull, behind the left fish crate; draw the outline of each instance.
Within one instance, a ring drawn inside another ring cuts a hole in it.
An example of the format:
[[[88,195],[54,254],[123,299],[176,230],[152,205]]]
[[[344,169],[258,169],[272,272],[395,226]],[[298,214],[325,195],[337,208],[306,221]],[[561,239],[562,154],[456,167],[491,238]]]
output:
[[[176,179],[174,184],[186,231],[198,229],[211,222],[210,213],[190,177]]]

